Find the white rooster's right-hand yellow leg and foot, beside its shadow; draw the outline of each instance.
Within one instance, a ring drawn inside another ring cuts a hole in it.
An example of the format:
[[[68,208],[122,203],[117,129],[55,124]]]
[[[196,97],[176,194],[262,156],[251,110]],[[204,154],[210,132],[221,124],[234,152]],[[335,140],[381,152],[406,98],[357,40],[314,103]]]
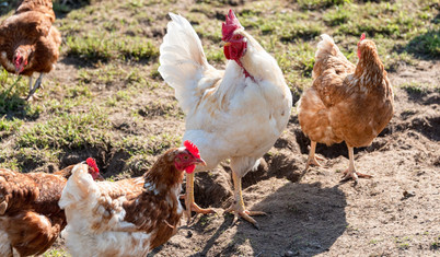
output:
[[[235,223],[238,217],[241,215],[243,219],[251,222],[257,230],[259,230],[258,223],[252,219],[251,215],[266,215],[266,212],[246,210],[242,196],[242,178],[232,171],[232,179],[234,180],[234,202],[227,211],[235,214],[233,223]]]

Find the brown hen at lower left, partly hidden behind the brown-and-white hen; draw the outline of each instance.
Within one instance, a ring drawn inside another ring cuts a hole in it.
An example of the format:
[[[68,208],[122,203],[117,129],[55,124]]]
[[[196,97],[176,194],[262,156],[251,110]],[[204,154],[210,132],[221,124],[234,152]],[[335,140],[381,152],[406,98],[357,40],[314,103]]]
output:
[[[101,179],[93,159],[86,172]],[[0,256],[40,255],[66,226],[58,200],[73,165],[59,172],[18,173],[0,168]]]

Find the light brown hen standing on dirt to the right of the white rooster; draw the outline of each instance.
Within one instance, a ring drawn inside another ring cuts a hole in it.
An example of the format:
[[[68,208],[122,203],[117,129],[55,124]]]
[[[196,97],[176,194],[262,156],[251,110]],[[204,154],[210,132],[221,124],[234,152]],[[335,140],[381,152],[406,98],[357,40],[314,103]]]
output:
[[[356,171],[354,148],[369,145],[385,128],[394,113],[393,91],[379,59],[374,42],[358,43],[358,65],[339,51],[332,37],[322,35],[315,54],[313,85],[298,105],[302,131],[310,138],[311,149],[305,170],[320,165],[316,142],[327,145],[345,141],[349,166],[344,179],[371,177]]]

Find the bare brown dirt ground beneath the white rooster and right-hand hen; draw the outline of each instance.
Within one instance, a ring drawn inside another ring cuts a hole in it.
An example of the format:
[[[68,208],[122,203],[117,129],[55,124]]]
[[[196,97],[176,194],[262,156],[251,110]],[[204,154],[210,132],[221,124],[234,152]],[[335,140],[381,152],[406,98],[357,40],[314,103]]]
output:
[[[420,62],[390,74],[440,84],[440,63]],[[371,179],[340,183],[345,144],[319,145],[322,167],[302,177],[308,139],[293,114],[265,155],[267,165],[243,178],[244,200],[258,231],[224,213],[232,194],[228,166],[198,174],[196,201],[216,207],[198,215],[150,256],[438,256],[440,242],[440,94],[394,87],[396,112],[372,145],[357,149],[356,166]],[[216,182],[216,183],[215,183]],[[223,194],[223,197],[219,195]]]

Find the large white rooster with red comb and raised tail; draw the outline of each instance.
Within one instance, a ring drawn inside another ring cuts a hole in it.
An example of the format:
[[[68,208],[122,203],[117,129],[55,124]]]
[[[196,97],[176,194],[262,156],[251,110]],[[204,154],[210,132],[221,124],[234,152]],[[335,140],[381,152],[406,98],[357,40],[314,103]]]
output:
[[[222,40],[228,65],[217,70],[206,59],[196,32],[181,15],[172,21],[160,47],[159,72],[174,87],[186,114],[184,140],[200,149],[207,166],[215,168],[231,160],[234,203],[228,210],[258,227],[251,218],[264,214],[248,211],[242,197],[242,177],[256,168],[287,126],[292,95],[277,61],[247,34],[232,10],[222,25]],[[186,211],[211,213],[194,201],[194,173],[186,176]]]

